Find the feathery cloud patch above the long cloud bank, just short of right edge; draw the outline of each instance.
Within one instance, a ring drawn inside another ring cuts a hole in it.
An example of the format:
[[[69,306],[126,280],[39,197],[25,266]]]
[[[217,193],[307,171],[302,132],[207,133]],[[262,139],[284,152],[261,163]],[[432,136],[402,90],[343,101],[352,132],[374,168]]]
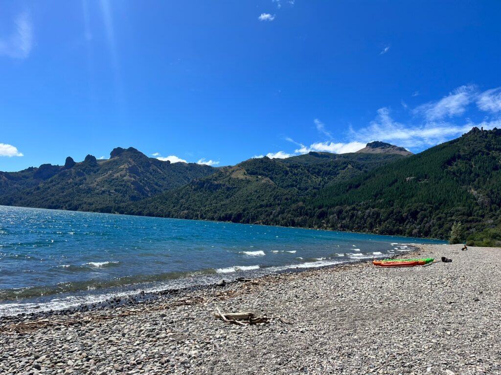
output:
[[[419,105],[414,109],[414,113],[423,114],[429,121],[459,116],[466,111],[466,107],[474,99],[475,95],[476,88],[474,85],[460,86],[438,101],[430,101]]]

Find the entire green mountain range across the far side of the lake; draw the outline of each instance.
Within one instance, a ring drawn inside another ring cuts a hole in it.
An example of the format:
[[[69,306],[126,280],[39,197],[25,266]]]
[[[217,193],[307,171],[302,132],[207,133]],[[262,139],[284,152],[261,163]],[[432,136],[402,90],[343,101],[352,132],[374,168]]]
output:
[[[370,142],[233,166],[160,161],[135,148],[110,158],[0,172],[0,204],[464,238],[501,224],[501,130],[473,128],[413,155]]]

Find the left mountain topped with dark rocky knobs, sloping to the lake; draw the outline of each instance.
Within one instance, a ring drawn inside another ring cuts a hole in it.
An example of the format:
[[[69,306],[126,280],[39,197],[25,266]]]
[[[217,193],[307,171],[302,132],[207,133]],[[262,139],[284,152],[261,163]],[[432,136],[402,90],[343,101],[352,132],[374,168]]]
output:
[[[64,166],[43,164],[0,172],[0,204],[115,212],[120,205],[185,185],[214,168],[150,158],[135,148],[115,148],[109,159],[87,155]]]

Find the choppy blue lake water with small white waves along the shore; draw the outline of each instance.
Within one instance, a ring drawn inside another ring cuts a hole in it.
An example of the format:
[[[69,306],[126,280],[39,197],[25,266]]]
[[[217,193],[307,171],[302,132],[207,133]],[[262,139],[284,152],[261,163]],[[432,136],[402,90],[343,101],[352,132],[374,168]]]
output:
[[[384,257],[417,238],[0,206],[0,315]]]

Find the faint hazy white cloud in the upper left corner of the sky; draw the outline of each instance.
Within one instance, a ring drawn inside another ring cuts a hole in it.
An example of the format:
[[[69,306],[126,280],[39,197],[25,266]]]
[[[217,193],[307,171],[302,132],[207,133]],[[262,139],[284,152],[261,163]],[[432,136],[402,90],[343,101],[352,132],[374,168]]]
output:
[[[33,27],[27,12],[21,13],[15,20],[16,30],[6,38],[0,38],[0,55],[14,58],[26,58],[33,46]]]

